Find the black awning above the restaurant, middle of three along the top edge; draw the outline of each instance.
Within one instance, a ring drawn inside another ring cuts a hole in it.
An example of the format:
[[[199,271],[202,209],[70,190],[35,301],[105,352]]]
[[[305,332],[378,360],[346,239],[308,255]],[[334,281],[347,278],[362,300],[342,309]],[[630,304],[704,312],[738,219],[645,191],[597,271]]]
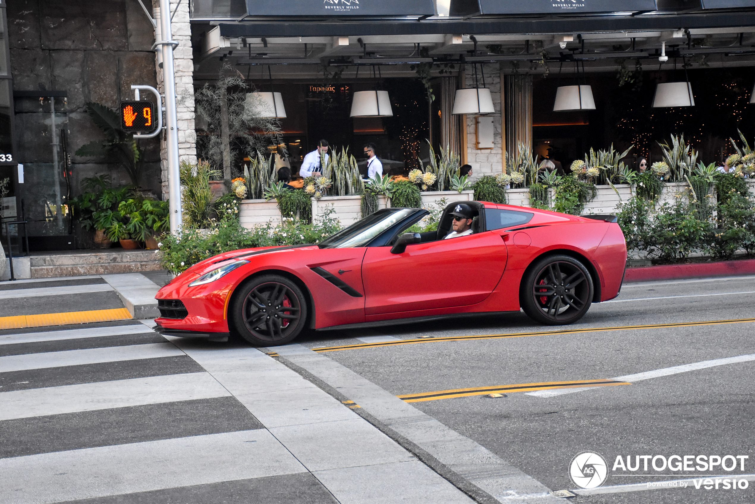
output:
[[[720,0],[726,2],[726,0]],[[451,16],[655,11],[655,0],[451,0]]]

